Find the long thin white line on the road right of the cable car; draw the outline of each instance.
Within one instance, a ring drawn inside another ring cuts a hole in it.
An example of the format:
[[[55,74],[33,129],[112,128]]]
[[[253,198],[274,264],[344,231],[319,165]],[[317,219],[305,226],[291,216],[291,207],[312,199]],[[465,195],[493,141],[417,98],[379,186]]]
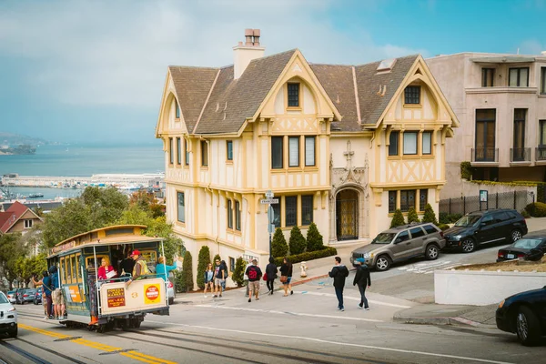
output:
[[[322,343],[322,344],[332,344],[332,345],[363,348],[363,349],[376,349],[376,350],[383,350],[383,351],[394,351],[394,352],[399,352],[399,353],[425,355],[425,356],[436,357],[436,358],[460,359],[460,360],[478,361],[480,363],[491,363],[491,364],[514,364],[514,363],[511,363],[511,362],[507,362],[507,361],[496,361],[496,360],[489,360],[489,359],[460,357],[460,356],[457,356],[457,355],[437,354],[437,353],[431,353],[431,352],[427,352],[427,351],[384,348],[384,347],[376,347],[376,346],[371,346],[371,345],[351,344],[349,342],[330,341],[330,340],[325,340],[325,339],[315,339],[315,338],[307,338],[307,337],[300,337],[300,336],[267,334],[267,333],[264,333],[264,332],[243,331],[243,330],[238,330],[238,329],[219,329],[217,327],[178,324],[178,323],[174,323],[174,322],[151,321],[151,320],[147,320],[147,322],[157,323],[157,324],[162,324],[162,325],[182,326],[182,327],[185,327],[185,328],[193,328],[193,329],[208,329],[208,330],[212,330],[212,331],[237,332],[239,334],[248,334],[248,335],[251,335],[251,336],[266,336],[266,337],[275,337],[275,338],[282,338],[282,339],[300,339],[300,340],[307,340],[307,341],[315,341],[315,342],[319,342],[319,343]]]

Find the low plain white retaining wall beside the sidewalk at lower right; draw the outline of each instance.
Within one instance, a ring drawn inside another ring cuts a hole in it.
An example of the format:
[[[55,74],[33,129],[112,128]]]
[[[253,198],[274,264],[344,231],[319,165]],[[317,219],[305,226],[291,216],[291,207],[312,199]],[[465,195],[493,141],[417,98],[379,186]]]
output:
[[[434,271],[434,301],[441,305],[484,306],[546,285],[546,273]]]

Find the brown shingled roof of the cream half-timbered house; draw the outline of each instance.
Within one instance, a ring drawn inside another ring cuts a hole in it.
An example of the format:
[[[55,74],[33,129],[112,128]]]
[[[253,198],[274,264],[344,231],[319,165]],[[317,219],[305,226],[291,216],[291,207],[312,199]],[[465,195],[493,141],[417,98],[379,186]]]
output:
[[[169,66],[181,113],[190,134],[237,133],[255,116],[297,49],[250,62],[237,80],[233,66]],[[380,62],[361,66],[313,65],[311,70],[338,109],[332,130],[357,132],[376,124],[419,55],[399,57],[388,72]]]

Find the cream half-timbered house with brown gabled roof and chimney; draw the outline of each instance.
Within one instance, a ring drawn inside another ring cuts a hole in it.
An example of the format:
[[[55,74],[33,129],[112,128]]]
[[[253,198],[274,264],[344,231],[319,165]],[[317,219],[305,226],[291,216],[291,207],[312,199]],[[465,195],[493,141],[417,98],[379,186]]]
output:
[[[268,258],[274,223],[325,243],[365,240],[396,208],[438,211],[445,141],[459,125],[421,56],[362,66],[309,64],[298,49],[264,56],[259,30],[234,65],[169,66],[156,136],[166,152],[167,218],[192,252],[231,265]]]

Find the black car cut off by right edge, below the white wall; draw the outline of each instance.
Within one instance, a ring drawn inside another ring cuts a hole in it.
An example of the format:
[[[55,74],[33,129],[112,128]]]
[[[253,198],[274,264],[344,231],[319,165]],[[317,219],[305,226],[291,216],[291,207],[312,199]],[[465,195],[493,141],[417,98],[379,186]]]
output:
[[[504,299],[496,320],[497,328],[518,334],[521,344],[539,344],[546,335],[546,286]]]

